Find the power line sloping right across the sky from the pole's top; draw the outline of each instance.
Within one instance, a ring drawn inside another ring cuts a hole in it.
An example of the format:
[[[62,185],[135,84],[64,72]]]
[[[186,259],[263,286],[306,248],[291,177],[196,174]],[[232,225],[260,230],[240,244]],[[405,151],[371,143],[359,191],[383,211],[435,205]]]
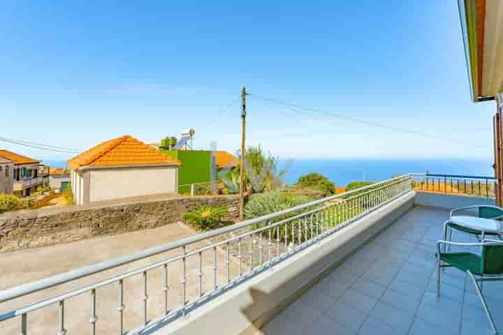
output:
[[[395,127],[395,126],[390,126],[388,124],[379,124],[377,122],[366,121],[366,120],[362,120],[362,119],[356,119],[354,117],[345,117],[344,115],[341,115],[341,114],[336,114],[336,113],[332,113],[332,112],[324,112],[322,110],[317,110],[315,108],[305,107],[305,106],[297,105],[297,104],[294,104],[294,103],[289,103],[287,101],[280,101],[280,100],[273,99],[273,98],[266,98],[264,96],[257,96],[256,94],[248,94],[248,95],[251,96],[251,97],[253,97],[253,98],[257,98],[259,100],[269,101],[271,103],[276,103],[278,105],[284,105],[284,106],[288,106],[288,107],[291,107],[291,108],[296,108],[298,110],[307,110],[307,111],[310,111],[310,112],[316,112],[318,114],[323,114],[323,115],[328,116],[328,117],[336,117],[337,119],[342,119],[342,120],[353,122],[353,123],[357,123],[357,124],[365,124],[366,126],[373,126],[373,127],[377,127],[377,128],[384,128],[384,129],[387,129],[387,130],[390,130],[390,131],[398,131],[400,133],[408,133],[408,134],[411,134],[411,135],[418,135],[418,136],[423,136],[423,137],[429,137],[429,138],[432,138],[432,139],[435,139],[435,140],[442,140],[442,141],[445,141],[445,142],[452,142],[452,143],[455,143],[455,144],[465,144],[465,145],[470,145],[472,147],[485,148],[485,146],[482,146],[481,144],[476,144],[476,143],[472,143],[472,142],[465,142],[465,141],[459,141],[459,140],[451,140],[451,139],[446,138],[446,137],[440,137],[440,136],[429,134],[429,133],[421,133],[421,132],[410,130],[410,129],[405,129],[405,128],[399,128],[399,127]],[[293,110],[293,111],[295,111],[295,110]]]

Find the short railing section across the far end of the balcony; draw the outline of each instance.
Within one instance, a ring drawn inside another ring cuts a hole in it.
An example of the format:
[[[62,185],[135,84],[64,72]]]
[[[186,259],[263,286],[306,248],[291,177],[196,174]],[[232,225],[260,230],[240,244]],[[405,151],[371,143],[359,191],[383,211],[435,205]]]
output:
[[[497,179],[484,176],[462,176],[458,174],[415,174],[414,188],[444,194],[472,195],[495,198]]]

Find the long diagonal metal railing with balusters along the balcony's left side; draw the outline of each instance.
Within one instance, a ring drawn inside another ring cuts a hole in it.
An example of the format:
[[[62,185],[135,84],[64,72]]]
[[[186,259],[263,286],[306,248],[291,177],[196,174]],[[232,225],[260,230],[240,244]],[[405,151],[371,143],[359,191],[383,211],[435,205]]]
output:
[[[57,317],[54,315],[53,320],[54,329],[43,329],[43,334],[48,334],[52,330],[58,335],[66,334],[66,329],[78,325],[78,321],[73,320],[75,316],[71,319],[67,318],[68,313],[76,313],[77,311],[67,312],[65,302],[68,299],[87,295],[90,330],[79,327],[71,329],[71,334],[83,333],[84,330],[90,334],[96,334],[96,323],[99,322],[98,308],[96,307],[99,301],[96,297],[99,297],[100,290],[110,286],[115,286],[115,290],[117,290],[116,299],[114,299],[117,311],[114,313],[117,313],[115,328],[119,335],[124,334],[125,330],[124,290],[137,292],[137,301],[140,301],[142,310],[140,312],[141,320],[137,320],[138,327],[133,327],[130,332],[138,332],[158,322],[178,318],[196,308],[202,303],[201,301],[211,299],[218,292],[231,290],[250,276],[273,267],[277,262],[281,262],[353,223],[358,218],[409,193],[412,191],[412,180],[409,174],[381,181],[377,184],[301,204],[291,209],[236,223],[194,237],[180,239],[171,244],[155,246],[131,255],[105,260],[95,265],[81,267],[34,283],[1,291],[0,303],[6,303],[6,301],[13,301],[13,299],[23,296],[29,297],[29,295],[41,290],[54,288],[79,278],[88,278],[108,269],[130,265],[131,262],[154,255],[175,252],[175,255],[156,260],[149,265],[124,271],[121,274],[68,290],[42,301],[30,302],[21,308],[9,309],[8,312],[0,315],[0,326],[2,322],[8,320],[19,320],[19,323],[15,322],[13,326],[17,328],[18,334],[27,335],[31,313],[35,311],[40,313],[39,310],[46,311],[43,308],[57,306]],[[203,271],[203,263],[205,271]],[[189,264],[194,266],[191,267]],[[176,268],[180,271],[180,280],[177,281],[177,284],[168,285],[168,282],[173,282],[168,281],[171,279],[170,273]],[[159,281],[159,284],[162,282],[161,287],[147,286],[147,278],[150,278],[154,271],[162,271],[162,274],[158,272],[162,278],[162,281]],[[132,277],[138,278],[140,285],[131,285],[126,288],[126,279]],[[191,286],[191,283],[194,285]],[[171,295],[168,298],[168,293],[173,290],[177,291],[180,298],[177,303],[171,299]],[[149,308],[152,306],[152,304],[147,305],[147,301],[151,299],[149,293],[159,297],[159,304],[155,305],[155,311],[150,311],[150,314],[147,314],[147,306]],[[103,303],[105,302],[103,301]],[[78,310],[81,311],[82,308],[85,308],[84,304],[86,303],[79,303]],[[102,308],[100,311],[101,313],[112,313],[110,308]],[[155,315],[155,317],[149,318],[148,315]],[[107,317],[107,319],[110,318]],[[41,318],[36,318],[34,323],[40,320]],[[68,322],[71,325],[68,325]],[[128,319],[128,322],[131,320]],[[36,326],[37,329],[41,328],[40,325]],[[109,331],[110,327],[107,329]]]

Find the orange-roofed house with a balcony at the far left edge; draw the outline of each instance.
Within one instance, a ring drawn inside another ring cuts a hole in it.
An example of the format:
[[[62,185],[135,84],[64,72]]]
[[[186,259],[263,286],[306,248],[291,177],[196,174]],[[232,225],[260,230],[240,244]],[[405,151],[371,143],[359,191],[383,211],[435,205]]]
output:
[[[41,165],[41,161],[8,150],[0,150],[0,157],[14,162],[13,193],[15,195],[27,197],[37,188],[49,184],[49,168]]]

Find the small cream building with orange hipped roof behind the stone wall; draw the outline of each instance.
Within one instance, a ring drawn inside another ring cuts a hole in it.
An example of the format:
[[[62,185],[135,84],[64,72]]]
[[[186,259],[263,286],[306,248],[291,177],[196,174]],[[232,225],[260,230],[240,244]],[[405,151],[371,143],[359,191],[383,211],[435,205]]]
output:
[[[68,161],[76,204],[178,192],[180,161],[130,135]]]

